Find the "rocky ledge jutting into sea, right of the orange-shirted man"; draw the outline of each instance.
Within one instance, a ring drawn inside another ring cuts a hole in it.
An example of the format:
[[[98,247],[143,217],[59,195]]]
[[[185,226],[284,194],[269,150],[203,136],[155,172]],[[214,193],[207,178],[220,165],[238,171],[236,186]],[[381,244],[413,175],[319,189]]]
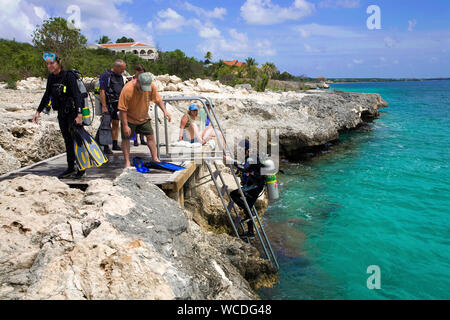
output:
[[[299,159],[309,148],[338,140],[339,132],[372,121],[379,116],[378,109],[388,105],[379,94],[322,90],[257,93],[229,88],[206,94],[193,86],[182,93],[164,92],[164,96],[210,98],[229,141],[261,130],[279,129],[280,151],[291,160]],[[168,108],[181,117],[189,103],[173,102]],[[177,127],[178,122],[170,124],[170,132],[178,132]]]

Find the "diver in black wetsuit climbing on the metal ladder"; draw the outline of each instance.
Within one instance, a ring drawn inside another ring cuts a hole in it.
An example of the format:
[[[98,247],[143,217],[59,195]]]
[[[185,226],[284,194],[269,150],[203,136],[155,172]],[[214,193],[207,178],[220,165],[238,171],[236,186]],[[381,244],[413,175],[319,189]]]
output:
[[[256,157],[256,163],[250,158],[250,142],[245,139],[239,143],[239,146],[245,149],[245,162],[239,164],[237,161],[233,161],[233,165],[237,168],[236,174],[241,178],[241,189],[244,193],[245,199],[250,210],[253,208],[256,200],[260,196],[265,187],[265,177],[261,175],[261,169],[264,168],[264,164],[261,163],[259,156]],[[230,160],[229,158],[225,158]],[[229,162],[228,162],[229,163]],[[247,221],[247,232],[240,235],[242,238],[254,238],[254,226],[253,220],[249,216],[246,210],[244,200],[241,197],[239,189],[236,189],[230,193],[231,199],[245,212],[245,219]]]

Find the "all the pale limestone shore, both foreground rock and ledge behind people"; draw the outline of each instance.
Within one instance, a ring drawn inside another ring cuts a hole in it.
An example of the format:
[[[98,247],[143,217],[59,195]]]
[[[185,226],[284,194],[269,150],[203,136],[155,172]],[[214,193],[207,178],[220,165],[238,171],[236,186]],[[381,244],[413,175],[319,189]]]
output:
[[[0,89],[0,174],[64,152],[55,112],[31,121],[44,81],[27,81],[19,90]],[[387,106],[378,94],[258,93],[168,75],[155,83],[163,97],[210,98],[228,139],[242,137],[243,128],[279,129],[288,159],[337,140]],[[189,104],[167,104],[170,142]],[[162,124],[162,114],[155,120]],[[98,118],[91,133],[96,127]],[[230,172],[224,176],[234,186]],[[266,206],[261,197],[257,208]],[[50,177],[0,182],[0,298],[254,299],[253,289],[276,282],[276,270],[255,248],[226,235],[229,222],[212,183],[185,207],[133,170],[114,183],[91,181],[86,191]]]

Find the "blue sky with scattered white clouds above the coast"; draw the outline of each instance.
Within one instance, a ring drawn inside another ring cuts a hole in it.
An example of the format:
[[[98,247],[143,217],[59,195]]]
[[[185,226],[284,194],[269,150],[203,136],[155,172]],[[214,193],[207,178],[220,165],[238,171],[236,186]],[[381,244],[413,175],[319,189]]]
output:
[[[327,77],[449,77],[449,0],[0,0],[0,37],[30,41],[49,16],[93,43],[122,35],[213,60],[254,57],[281,71]],[[381,29],[366,12],[380,8]]]

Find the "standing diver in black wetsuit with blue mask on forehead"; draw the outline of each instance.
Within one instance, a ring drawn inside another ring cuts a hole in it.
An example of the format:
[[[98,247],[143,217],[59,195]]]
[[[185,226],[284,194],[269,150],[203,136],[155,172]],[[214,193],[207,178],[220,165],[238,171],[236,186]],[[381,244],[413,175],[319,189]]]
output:
[[[33,122],[38,123],[40,113],[49,104],[51,98],[53,110],[58,111],[59,128],[66,146],[67,169],[58,175],[58,178],[64,178],[75,173],[75,151],[71,130],[74,125],[80,126],[83,123],[83,101],[75,74],[64,70],[61,58],[50,52],[45,52],[43,58],[50,75]],[[76,172],[78,178],[83,175],[84,171]]]

